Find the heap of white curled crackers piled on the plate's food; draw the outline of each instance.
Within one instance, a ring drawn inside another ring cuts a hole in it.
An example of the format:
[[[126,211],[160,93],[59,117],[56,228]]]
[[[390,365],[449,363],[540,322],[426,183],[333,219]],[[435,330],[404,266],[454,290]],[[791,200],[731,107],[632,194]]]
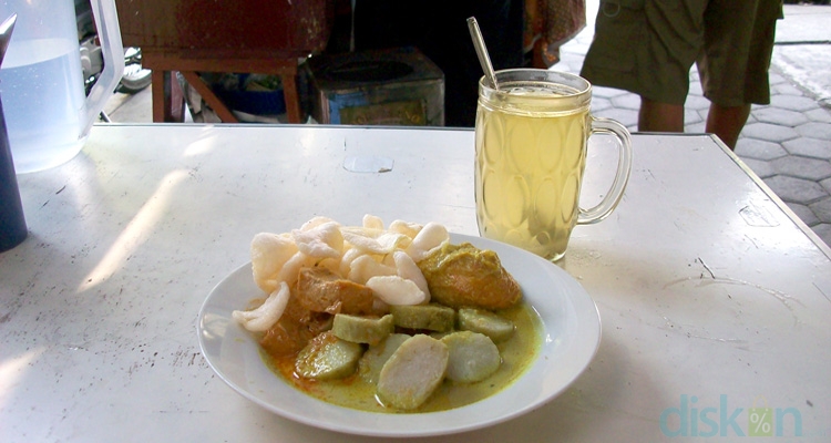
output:
[[[250,311],[234,311],[246,329],[265,331],[283,315],[300,269],[322,266],[343,278],[366,285],[376,295],[375,305],[420,305],[430,301],[430,290],[417,262],[450,240],[444,226],[383,220],[365,215],[362,226],[341,226],[317,216],[299,229],[284,234],[257,234],[250,255],[254,280],[268,299]]]

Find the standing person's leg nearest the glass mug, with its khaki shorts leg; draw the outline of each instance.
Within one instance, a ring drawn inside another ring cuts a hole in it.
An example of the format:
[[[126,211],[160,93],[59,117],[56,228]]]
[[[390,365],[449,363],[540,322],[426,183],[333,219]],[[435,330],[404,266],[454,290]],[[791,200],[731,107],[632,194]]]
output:
[[[640,96],[638,130],[684,132],[689,70],[700,52],[700,0],[604,0],[581,75]]]

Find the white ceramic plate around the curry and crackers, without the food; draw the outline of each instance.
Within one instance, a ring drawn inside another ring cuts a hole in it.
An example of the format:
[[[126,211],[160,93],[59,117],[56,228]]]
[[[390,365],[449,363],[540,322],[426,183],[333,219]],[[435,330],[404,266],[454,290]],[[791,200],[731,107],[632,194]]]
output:
[[[261,291],[250,264],[222,280],[199,312],[199,347],[211,368],[248,400],[289,420],[331,431],[376,436],[425,436],[489,426],[532,411],[563,392],[585,370],[601,341],[597,307],[568,274],[513,246],[463,235],[495,250],[543,322],[540,356],[512,385],[480,402],[443,412],[384,414],[336,406],[290,387],[266,368],[258,344],[230,317]]]

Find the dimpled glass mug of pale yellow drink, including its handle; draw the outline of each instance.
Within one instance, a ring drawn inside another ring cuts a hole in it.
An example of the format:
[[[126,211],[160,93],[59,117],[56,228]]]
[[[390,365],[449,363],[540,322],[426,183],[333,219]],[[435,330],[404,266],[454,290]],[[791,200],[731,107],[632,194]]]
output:
[[[479,233],[552,261],[565,255],[575,225],[615,209],[632,169],[629,132],[592,116],[592,84],[567,73],[496,72],[499,90],[479,82],[475,195]],[[579,207],[586,146],[608,134],[619,152],[612,188],[595,207]]]

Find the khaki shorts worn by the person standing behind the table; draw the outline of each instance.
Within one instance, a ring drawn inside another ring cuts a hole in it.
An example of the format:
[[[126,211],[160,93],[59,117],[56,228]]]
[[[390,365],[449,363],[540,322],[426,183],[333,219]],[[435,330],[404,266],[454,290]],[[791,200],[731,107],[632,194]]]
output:
[[[601,0],[581,75],[683,105],[697,63],[722,106],[770,103],[768,69],[781,0]]]

